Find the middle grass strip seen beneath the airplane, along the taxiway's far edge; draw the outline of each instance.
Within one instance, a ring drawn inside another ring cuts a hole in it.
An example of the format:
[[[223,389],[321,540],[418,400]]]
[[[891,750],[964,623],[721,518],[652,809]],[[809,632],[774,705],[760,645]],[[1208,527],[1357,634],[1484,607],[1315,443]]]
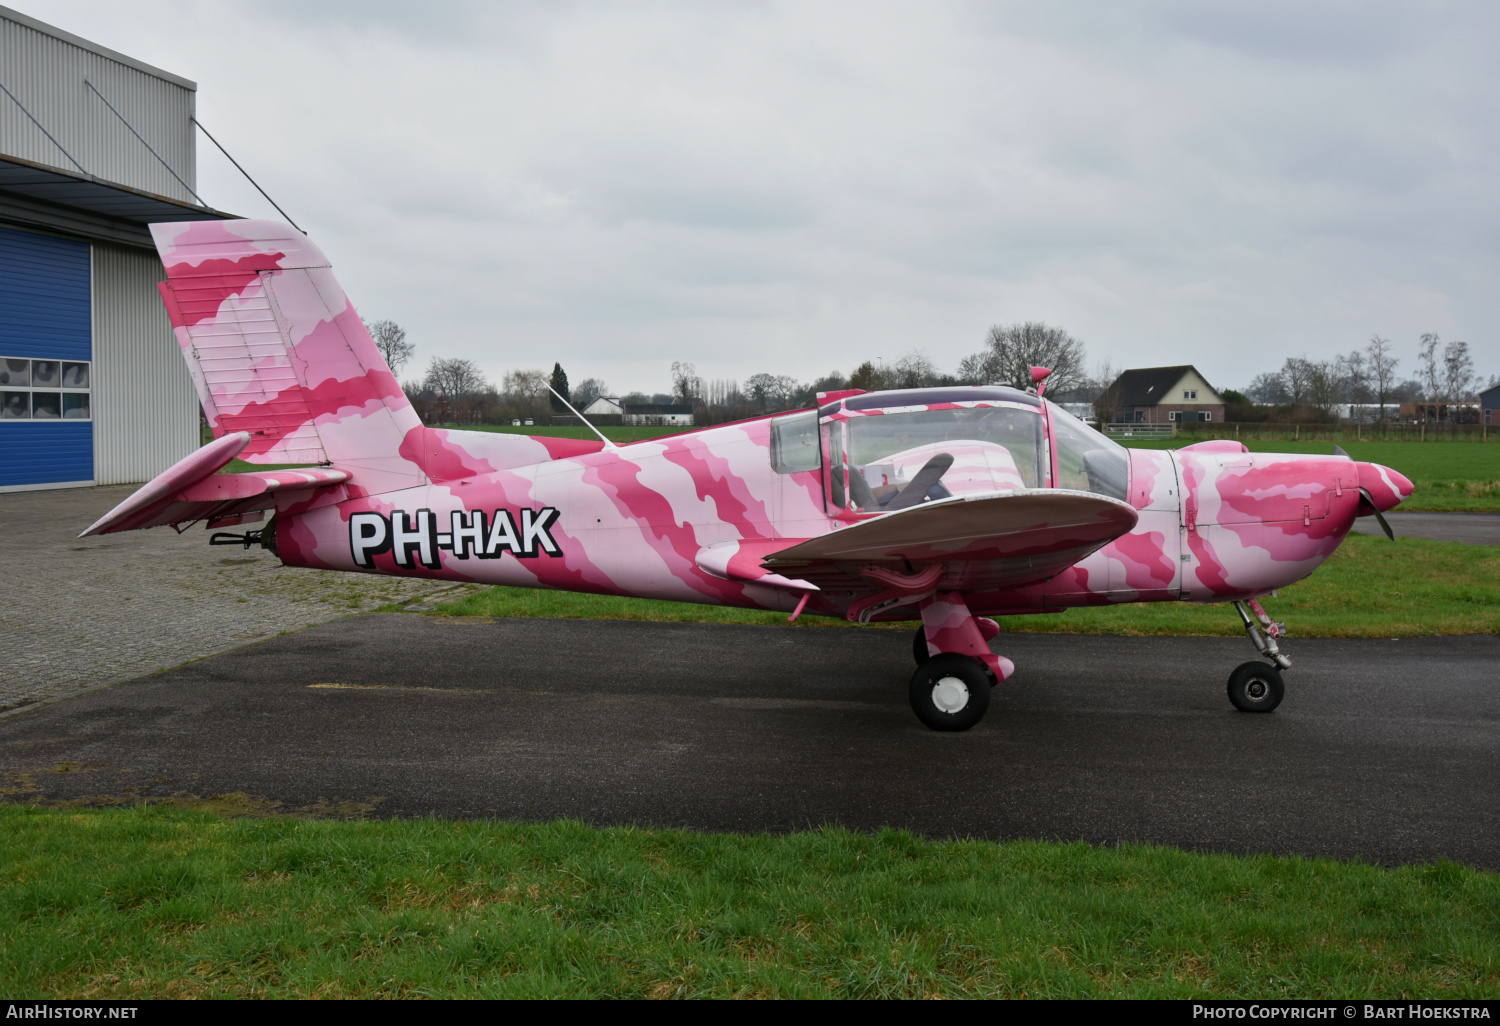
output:
[[[1500,548],[1350,534],[1312,576],[1266,610],[1287,621],[1292,638],[1412,638],[1500,633]],[[651,598],[615,598],[530,588],[488,588],[440,606],[435,615],[546,616],[560,620],[652,620],[710,624],[780,624],[784,614],[699,606]],[[848,627],[843,620],[804,615],[802,627]],[[882,624],[886,626],[886,624]],[[890,624],[909,630],[914,624]],[[1224,604],[1162,602],[1002,616],[1000,630],[1068,634],[1236,636],[1239,616]]]

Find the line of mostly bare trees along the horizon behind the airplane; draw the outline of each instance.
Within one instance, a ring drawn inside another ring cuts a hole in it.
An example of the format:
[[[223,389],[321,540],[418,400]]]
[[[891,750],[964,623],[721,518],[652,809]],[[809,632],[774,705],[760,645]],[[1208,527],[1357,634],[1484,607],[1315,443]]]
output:
[[[416,345],[393,321],[369,324],[370,338],[394,374],[411,362]],[[1332,360],[1292,357],[1280,370],[1257,375],[1244,390],[1221,388],[1228,420],[1322,420],[1332,418],[1347,404],[1376,404],[1382,410],[1401,402],[1461,402],[1472,399],[1484,382],[1474,372],[1467,342],[1443,342],[1424,334],[1418,342],[1416,372],[1402,378],[1401,360],[1390,339],[1378,334],[1358,350]],[[555,393],[584,410],[609,396],[621,404],[692,406],[698,424],[716,424],[780,410],[816,405],[819,392],[862,388],[928,388],[939,386],[1008,384],[1032,386],[1030,368],[1052,368],[1047,394],[1060,402],[1094,404],[1101,420],[1113,420],[1108,386],[1118,376],[1108,360],[1088,366],[1084,344],[1060,327],[1041,321],[998,324],[978,351],[951,372],[933,364],[921,350],[910,350],[886,363],[862,360],[848,374],[834,369],[813,381],[790,375],[753,374],[744,381],[702,378],[692,362],[674,362],[668,390],[616,393],[602,378],[570,384],[561,363],[507,370],[492,382],[472,360],[432,357],[420,378],[402,388],[428,423],[546,423],[567,408]],[[1496,384],[1500,378],[1491,378]],[[549,387],[550,386],[550,387]],[[555,390],[555,393],[554,393]]]

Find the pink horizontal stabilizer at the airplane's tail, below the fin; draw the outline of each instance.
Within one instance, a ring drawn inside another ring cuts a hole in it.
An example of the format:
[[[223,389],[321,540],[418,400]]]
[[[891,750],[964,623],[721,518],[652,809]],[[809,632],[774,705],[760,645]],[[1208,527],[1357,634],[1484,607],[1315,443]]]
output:
[[[249,441],[248,432],[234,432],[208,442],[142,484],[78,537],[196,520],[208,520],[210,526],[238,524],[250,519],[249,513],[276,508],[278,496],[310,498],[318,489],[350,478],[345,471],[327,466],[219,474]]]

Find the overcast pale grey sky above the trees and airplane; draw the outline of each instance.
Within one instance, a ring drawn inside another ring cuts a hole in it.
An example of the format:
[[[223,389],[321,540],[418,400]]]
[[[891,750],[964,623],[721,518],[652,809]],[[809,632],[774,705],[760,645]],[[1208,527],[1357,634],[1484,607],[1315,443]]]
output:
[[[195,80],[418,362],[656,392],[1044,320],[1230,387],[1374,332],[1500,372],[1494,3],[8,2]]]

